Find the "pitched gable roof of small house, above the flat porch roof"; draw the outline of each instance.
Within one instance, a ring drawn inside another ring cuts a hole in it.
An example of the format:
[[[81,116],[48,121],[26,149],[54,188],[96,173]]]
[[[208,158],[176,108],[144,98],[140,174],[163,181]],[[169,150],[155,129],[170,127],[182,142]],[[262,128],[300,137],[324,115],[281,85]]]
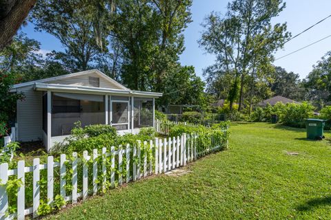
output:
[[[90,70],[86,70],[86,71],[82,71],[82,72],[77,72],[74,74],[66,74],[66,75],[62,75],[62,76],[54,76],[51,78],[43,78],[41,80],[34,80],[34,81],[30,81],[30,82],[26,82],[26,83],[19,83],[16,84],[12,87],[12,89],[17,89],[20,87],[26,87],[29,85],[34,85],[35,83],[47,83],[50,81],[54,81],[54,80],[61,80],[64,78],[70,78],[73,76],[79,76],[79,75],[83,75],[83,74],[98,74],[100,77],[104,78],[105,80],[108,80],[110,83],[113,83],[114,85],[117,85],[118,87],[120,87],[123,90],[128,90],[130,91],[130,89],[128,89],[127,87],[121,85],[121,83],[117,83],[117,81],[113,80],[112,78],[110,78],[109,76],[107,76],[106,74],[103,74],[103,72],[101,72],[99,69],[90,69]]]

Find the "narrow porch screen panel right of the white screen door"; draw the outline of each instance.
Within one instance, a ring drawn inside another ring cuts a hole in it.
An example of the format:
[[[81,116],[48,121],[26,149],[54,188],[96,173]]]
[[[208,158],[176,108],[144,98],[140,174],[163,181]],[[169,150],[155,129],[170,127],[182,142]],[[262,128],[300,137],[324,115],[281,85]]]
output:
[[[134,98],[134,129],[153,126],[153,100]]]

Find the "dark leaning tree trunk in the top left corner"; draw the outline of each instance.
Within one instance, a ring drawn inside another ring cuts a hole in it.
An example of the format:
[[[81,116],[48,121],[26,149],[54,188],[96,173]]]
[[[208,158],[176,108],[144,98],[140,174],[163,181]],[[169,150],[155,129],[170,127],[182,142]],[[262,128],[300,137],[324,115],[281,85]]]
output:
[[[7,4],[1,1],[0,8],[4,8],[4,12],[0,14],[0,51],[10,44],[36,1],[10,0]]]

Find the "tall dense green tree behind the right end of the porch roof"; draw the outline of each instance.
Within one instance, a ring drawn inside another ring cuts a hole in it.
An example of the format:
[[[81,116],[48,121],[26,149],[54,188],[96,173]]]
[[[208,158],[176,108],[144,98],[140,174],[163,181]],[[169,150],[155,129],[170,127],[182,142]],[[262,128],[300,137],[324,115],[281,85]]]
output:
[[[112,34],[123,45],[123,83],[132,89],[163,91],[178,69],[183,30],[192,1],[133,1],[117,4]]]

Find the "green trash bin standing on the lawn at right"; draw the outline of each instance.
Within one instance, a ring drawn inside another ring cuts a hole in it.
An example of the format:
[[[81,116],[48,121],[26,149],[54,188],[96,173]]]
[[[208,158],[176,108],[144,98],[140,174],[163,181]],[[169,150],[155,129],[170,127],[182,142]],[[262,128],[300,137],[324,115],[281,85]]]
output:
[[[325,120],[313,118],[305,120],[307,138],[312,140],[322,140],[324,138],[324,126]]]

